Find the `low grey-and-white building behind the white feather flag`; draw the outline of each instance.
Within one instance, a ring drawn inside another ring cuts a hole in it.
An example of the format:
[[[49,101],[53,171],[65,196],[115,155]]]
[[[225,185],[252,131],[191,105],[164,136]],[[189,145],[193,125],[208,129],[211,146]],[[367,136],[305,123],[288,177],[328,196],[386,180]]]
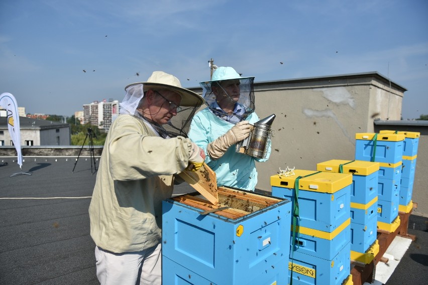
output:
[[[21,146],[70,146],[70,124],[20,117]],[[0,146],[13,146],[7,116],[0,116]]]

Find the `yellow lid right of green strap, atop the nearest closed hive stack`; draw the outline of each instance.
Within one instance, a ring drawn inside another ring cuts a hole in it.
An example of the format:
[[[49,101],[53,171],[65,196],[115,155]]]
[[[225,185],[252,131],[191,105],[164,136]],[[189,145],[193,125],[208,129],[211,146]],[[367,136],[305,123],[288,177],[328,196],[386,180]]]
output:
[[[352,184],[352,174],[318,172],[299,180],[299,190],[335,193]]]

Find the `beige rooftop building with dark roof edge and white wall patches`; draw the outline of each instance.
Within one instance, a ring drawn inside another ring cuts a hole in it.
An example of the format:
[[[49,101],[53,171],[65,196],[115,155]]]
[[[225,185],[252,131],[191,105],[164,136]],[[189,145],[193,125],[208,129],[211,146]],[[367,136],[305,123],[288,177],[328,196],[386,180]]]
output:
[[[257,84],[257,114],[277,115],[271,157],[257,164],[257,188],[270,191],[279,168],[316,170],[320,162],[354,160],[356,133],[374,132],[374,118],[400,119],[406,89],[389,86],[377,72]]]

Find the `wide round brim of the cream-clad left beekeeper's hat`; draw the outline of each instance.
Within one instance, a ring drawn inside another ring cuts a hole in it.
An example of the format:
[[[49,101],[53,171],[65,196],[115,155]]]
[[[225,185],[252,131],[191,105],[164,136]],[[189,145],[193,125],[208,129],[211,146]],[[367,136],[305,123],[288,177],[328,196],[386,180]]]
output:
[[[193,106],[200,106],[205,103],[205,100],[197,93],[190,91],[185,88],[176,87],[172,85],[167,84],[161,84],[161,83],[153,83],[153,82],[136,82],[129,84],[125,87],[125,90],[134,84],[143,84],[143,91],[146,92],[147,90],[170,90],[173,92],[176,92],[180,94],[181,96],[181,102],[180,106],[186,106],[186,107],[193,107]]]

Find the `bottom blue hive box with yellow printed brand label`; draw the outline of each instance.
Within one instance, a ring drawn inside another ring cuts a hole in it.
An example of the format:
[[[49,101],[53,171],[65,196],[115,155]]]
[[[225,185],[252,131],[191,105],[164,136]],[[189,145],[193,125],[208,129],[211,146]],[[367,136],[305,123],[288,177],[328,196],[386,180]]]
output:
[[[293,285],[341,285],[351,272],[351,243],[348,243],[332,260],[300,252],[293,252],[292,256],[288,262],[288,279],[291,279],[292,269]]]

